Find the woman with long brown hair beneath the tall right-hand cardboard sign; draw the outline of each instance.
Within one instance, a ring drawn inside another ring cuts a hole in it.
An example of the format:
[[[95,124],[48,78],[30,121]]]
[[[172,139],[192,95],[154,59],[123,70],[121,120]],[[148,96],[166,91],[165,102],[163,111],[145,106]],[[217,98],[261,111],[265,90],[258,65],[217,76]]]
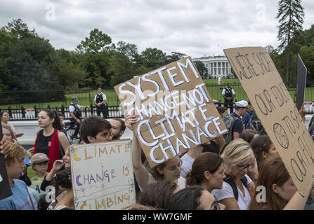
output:
[[[259,179],[256,186],[264,186],[266,190],[265,199],[257,202],[259,197],[256,191],[252,197],[250,210],[303,210],[308,200],[309,195],[313,197],[313,183],[311,180],[310,186],[306,194],[303,196],[296,190],[291,176],[284,166],[284,162],[280,156],[266,158],[260,167]],[[312,198],[313,200],[313,198]]]

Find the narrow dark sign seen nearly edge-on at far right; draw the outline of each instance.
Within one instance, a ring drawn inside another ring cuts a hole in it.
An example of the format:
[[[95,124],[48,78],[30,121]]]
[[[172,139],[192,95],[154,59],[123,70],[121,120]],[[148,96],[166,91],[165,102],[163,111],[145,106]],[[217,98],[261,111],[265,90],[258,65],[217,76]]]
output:
[[[296,77],[296,109],[300,110],[306,94],[306,73],[308,69],[298,54],[298,72]]]

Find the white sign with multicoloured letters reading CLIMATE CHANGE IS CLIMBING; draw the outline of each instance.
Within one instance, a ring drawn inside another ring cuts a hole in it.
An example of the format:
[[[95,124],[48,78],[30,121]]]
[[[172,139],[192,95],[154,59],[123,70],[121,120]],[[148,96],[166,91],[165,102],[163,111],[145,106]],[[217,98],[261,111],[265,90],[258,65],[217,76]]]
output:
[[[131,141],[72,145],[70,153],[76,210],[120,209],[136,202]]]

